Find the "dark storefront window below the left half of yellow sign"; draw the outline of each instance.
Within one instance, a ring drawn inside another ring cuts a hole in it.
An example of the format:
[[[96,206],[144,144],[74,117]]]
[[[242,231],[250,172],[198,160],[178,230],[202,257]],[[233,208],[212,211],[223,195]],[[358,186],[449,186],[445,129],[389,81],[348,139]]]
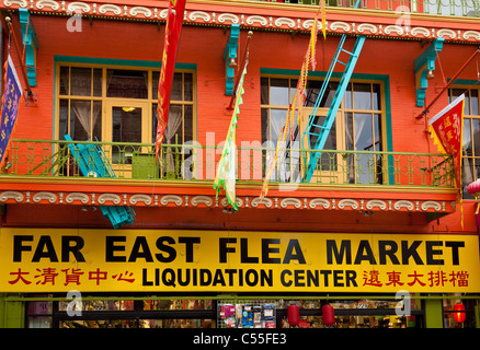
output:
[[[27,302],[27,328],[212,328],[216,301],[136,294],[134,300],[82,295],[73,301]],[[69,315],[68,311],[75,312]]]

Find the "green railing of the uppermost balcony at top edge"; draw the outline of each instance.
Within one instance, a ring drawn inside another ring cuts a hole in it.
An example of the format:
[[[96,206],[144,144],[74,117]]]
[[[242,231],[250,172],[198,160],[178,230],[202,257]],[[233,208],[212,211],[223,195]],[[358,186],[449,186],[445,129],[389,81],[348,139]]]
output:
[[[320,0],[256,0],[318,5]],[[328,0],[333,8],[354,8],[356,0]],[[361,9],[480,18],[480,0],[361,0]]]

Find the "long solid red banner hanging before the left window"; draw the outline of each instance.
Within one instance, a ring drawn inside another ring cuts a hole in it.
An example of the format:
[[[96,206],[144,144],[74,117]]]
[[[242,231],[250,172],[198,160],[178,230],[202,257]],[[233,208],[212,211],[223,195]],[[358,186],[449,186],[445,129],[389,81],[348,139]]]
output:
[[[157,138],[155,142],[155,159],[158,160],[160,145],[169,125],[170,95],[172,91],[173,72],[175,70],[176,51],[182,31],[185,0],[170,0],[167,16],[165,37],[163,44],[162,67],[158,84]]]

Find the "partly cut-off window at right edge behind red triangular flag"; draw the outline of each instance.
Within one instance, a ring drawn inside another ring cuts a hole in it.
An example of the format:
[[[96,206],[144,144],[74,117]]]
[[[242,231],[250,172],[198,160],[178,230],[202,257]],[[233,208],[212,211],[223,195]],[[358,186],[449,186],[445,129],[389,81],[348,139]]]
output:
[[[461,182],[464,184],[464,198],[473,197],[467,192],[467,186],[480,178],[480,89],[456,86],[449,90],[449,102],[465,93],[464,108],[464,150]]]

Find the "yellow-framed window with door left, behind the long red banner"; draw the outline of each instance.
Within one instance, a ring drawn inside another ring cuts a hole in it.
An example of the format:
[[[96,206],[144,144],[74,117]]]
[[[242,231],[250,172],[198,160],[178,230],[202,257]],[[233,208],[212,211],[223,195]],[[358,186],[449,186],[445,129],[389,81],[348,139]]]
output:
[[[155,143],[160,70],[59,63],[57,72],[58,139],[65,140],[68,133],[76,141]],[[162,148],[161,176],[183,177],[182,163],[192,152],[181,145],[195,139],[194,96],[194,73],[176,71],[163,142],[171,147]],[[105,145],[104,151],[121,170],[114,166],[118,177],[136,174],[132,166],[124,166],[133,164],[136,154],[138,160],[140,155],[153,160],[152,148],[147,147]]]

